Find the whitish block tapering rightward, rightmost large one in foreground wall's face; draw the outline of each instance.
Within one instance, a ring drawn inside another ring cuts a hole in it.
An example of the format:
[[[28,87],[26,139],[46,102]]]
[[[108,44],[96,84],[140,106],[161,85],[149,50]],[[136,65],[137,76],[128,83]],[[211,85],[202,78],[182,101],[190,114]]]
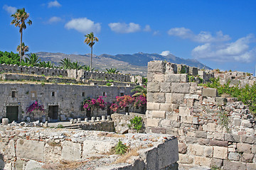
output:
[[[85,140],[82,147],[82,158],[90,157],[92,154],[110,152],[112,147],[116,144],[114,142],[104,142],[98,140]]]

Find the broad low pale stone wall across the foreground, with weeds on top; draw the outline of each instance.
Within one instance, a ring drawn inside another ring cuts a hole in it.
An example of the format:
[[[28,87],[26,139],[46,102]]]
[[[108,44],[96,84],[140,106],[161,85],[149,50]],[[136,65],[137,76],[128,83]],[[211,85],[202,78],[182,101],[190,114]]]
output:
[[[119,140],[130,149],[139,148],[139,156],[115,164],[120,156],[111,150]],[[0,169],[56,169],[61,160],[87,162],[85,169],[164,169],[178,161],[177,144],[171,135],[0,126]]]

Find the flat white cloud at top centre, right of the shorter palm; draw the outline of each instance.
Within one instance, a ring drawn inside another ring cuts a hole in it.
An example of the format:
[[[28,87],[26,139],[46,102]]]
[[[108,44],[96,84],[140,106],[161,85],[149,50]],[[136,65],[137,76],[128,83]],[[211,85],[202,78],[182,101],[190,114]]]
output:
[[[137,23],[109,23],[108,26],[116,33],[135,33],[141,30]]]

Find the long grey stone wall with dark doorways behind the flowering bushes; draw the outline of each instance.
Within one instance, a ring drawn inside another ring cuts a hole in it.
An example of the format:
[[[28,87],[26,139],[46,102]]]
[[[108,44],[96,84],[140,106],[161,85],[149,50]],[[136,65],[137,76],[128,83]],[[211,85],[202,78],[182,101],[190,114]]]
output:
[[[18,106],[18,120],[25,120],[26,108],[34,101],[43,105],[48,117],[49,106],[58,106],[60,115],[65,118],[85,118],[81,110],[82,101],[87,98],[104,96],[106,102],[112,103],[120,94],[131,94],[132,87],[122,86],[83,86],[64,84],[0,84],[0,119],[6,118],[6,106]],[[14,95],[14,96],[13,96]],[[91,116],[107,115],[105,111],[93,111]]]

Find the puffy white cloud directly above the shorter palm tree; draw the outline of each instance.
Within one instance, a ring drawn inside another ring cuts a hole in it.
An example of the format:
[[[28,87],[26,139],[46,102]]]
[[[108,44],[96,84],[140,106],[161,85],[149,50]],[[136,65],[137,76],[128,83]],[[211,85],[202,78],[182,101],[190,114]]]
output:
[[[75,29],[78,32],[86,34],[90,32],[100,33],[100,23],[95,23],[87,18],[75,18],[65,24],[65,28],[68,30]]]

